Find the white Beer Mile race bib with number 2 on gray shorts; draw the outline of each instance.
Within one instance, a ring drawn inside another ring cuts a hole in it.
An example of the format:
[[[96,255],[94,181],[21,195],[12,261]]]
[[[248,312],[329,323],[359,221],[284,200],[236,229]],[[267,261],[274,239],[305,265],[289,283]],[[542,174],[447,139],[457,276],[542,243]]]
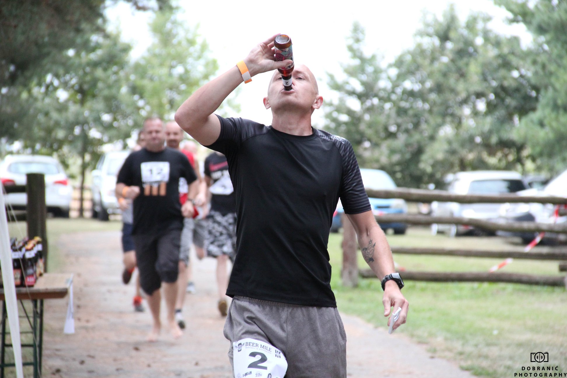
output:
[[[287,360],[273,345],[246,338],[232,343],[232,348],[236,378],[284,378]]]

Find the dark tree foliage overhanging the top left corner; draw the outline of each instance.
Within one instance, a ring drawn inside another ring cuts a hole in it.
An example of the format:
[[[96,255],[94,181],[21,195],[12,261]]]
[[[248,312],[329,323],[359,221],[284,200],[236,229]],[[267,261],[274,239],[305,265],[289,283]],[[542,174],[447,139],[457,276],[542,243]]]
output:
[[[0,0],[0,135],[22,139],[37,87],[67,64],[67,52],[81,53],[85,41],[105,31],[104,10],[117,0]],[[138,10],[168,7],[169,0],[125,0]],[[88,48],[88,46],[87,46]]]

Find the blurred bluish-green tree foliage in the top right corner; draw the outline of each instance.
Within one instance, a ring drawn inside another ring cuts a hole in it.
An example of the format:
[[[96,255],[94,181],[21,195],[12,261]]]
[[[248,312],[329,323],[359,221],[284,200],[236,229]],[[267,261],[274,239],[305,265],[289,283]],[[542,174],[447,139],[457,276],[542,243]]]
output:
[[[495,0],[534,35],[534,79],[541,87],[536,109],[520,120],[519,139],[545,171],[567,167],[567,2]]]

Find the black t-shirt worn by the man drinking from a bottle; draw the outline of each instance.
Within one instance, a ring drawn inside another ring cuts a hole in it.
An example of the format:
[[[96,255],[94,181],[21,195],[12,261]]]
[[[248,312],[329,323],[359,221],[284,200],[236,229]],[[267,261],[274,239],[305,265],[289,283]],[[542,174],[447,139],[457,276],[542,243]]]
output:
[[[227,295],[336,307],[327,243],[338,198],[347,214],[371,209],[352,146],[321,130],[298,136],[218,118],[208,147],[226,155],[237,214]]]

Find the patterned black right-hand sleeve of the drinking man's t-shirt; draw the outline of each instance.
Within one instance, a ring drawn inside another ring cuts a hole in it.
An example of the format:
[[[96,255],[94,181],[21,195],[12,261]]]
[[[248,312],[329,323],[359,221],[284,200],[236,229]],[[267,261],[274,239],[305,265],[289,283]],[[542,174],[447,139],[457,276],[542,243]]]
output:
[[[316,130],[316,132],[320,138],[333,142],[342,156],[342,178],[338,195],[345,214],[360,214],[371,210],[353,146],[345,138],[327,131]]]

